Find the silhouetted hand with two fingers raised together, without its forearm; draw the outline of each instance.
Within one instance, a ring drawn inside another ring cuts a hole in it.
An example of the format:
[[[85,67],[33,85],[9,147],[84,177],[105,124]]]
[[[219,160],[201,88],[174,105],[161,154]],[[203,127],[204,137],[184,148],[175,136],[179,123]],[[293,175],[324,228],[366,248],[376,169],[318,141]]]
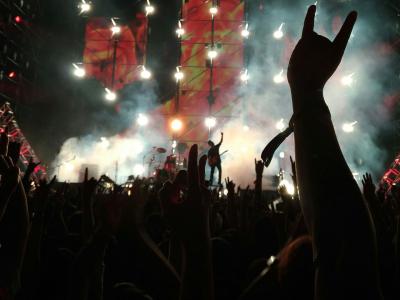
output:
[[[183,244],[191,246],[195,246],[198,239],[209,237],[211,195],[204,182],[207,157],[202,156],[197,165],[197,151],[197,145],[193,145],[187,173],[181,171],[174,182],[165,183],[160,191],[164,216]]]

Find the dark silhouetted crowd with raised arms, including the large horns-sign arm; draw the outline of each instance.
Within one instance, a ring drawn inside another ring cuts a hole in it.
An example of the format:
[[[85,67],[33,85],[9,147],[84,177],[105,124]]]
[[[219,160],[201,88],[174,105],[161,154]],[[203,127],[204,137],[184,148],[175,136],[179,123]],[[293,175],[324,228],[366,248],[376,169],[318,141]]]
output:
[[[102,176],[81,184],[21,175],[0,137],[0,299],[399,299],[400,189],[358,187],[323,97],[357,19],[330,41],[309,7],[291,56],[295,194],[225,179],[207,188],[193,145],[173,181]],[[222,140],[221,140],[222,141]],[[228,174],[229,175],[229,174]],[[279,203],[277,203],[280,198]]]

